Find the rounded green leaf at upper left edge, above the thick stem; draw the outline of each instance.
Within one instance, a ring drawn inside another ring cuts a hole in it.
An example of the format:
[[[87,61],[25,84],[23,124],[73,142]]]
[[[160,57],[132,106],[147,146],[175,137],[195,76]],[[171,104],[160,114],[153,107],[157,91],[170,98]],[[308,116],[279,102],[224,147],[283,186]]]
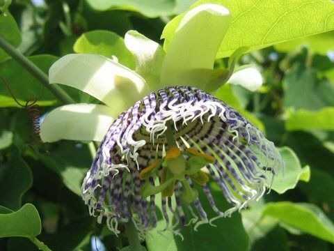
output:
[[[22,42],[19,27],[17,27],[14,18],[8,12],[0,13],[0,36],[14,47],[18,47]],[[0,61],[8,58],[8,54],[0,49]]]

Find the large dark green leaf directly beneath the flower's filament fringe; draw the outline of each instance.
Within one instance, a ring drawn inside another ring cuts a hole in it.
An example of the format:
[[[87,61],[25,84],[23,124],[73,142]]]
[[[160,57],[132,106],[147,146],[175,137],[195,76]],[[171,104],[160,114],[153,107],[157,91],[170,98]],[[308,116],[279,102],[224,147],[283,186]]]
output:
[[[230,208],[230,205],[225,201],[225,198],[218,191],[216,186],[212,188],[212,195],[216,201],[216,205],[222,211]],[[200,192],[200,201],[207,212],[208,218],[212,218],[215,213],[212,211],[209,201],[202,192]],[[191,218],[189,212],[185,211],[186,216]],[[159,221],[159,226],[164,226],[164,222]],[[247,250],[248,236],[242,227],[241,217],[239,213],[232,214],[231,218],[221,218],[213,222],[217,227],[209,224],[201,225],[198,231],[193,229],[193,225],[184,227],[181,234],[184,236],[184,241],[180,236],[173,236],[173,233],[166,231],[159,233],[157,229],[150,231],[146,237],[148,250],[164,250],[183,251],[183,250]]]

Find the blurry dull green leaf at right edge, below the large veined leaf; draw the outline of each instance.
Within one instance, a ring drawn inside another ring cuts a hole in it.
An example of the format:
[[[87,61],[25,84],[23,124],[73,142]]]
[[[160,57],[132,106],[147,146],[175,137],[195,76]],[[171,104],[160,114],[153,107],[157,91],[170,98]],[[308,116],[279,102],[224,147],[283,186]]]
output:
[[[305,68],[301,63],[296,63],[285,74],[283,89],[283,102],[287,108],[314,111],[334,105],[334,84],[317,79],[317,71]]]

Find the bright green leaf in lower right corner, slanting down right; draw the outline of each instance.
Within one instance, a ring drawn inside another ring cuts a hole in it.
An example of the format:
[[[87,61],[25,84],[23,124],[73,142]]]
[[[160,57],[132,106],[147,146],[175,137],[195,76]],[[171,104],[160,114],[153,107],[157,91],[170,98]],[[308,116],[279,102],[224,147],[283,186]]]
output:
[[[315,205],[289,201],[269,203],[263,213],[306,234],[334,243],[333,222]]]

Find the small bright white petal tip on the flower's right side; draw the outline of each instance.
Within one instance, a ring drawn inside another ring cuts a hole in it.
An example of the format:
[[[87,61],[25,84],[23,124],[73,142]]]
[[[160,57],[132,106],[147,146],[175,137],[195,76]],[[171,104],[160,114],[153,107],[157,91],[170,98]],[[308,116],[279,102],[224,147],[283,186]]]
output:
[[[256,91],[262,86],[263,79],[259,70],[250,67],[233,73],[228,83],[239,84],[249,91]]]

